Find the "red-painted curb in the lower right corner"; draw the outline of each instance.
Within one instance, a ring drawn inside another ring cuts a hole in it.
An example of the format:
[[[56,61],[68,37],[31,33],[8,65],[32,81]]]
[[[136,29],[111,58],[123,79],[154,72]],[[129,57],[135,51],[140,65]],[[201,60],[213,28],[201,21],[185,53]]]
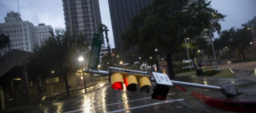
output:
[[[229,111],[256,112],[256,101],[237,101],[212,98],[198,92],[192,92],[191,95],[198,98],[210,107]]]

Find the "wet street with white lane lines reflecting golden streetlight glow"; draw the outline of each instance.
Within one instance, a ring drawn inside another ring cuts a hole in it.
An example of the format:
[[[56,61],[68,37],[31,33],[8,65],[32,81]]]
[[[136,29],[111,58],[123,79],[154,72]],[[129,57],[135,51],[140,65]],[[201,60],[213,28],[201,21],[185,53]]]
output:
[[[79,95],[70,100],[58,101],[36,113],[138,113],[168,110],[182,107],[186,103],[175,93],[170,93],[165,101],[151,99],[151,94],[140,91],[115,90],[110,86]]]

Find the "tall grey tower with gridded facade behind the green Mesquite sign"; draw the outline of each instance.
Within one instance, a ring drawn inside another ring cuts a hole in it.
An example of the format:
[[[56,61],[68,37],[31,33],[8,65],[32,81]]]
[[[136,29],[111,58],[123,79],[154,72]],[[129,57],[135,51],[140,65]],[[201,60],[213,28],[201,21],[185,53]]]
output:
[[[62,0],[62,2],[66,30],[76,34],[84,30],[91,46],[93,33],[97,33],[97,27],[101,24],[99,1]]]

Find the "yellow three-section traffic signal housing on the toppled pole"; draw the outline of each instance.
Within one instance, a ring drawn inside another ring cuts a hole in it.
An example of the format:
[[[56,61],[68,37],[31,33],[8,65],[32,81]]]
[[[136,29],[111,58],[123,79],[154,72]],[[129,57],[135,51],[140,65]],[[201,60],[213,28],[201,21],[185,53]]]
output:
[[[125,83],[126,90],[135,92],[137,86],[140,88],[140,92],[148,93],[149,86],[151,85],[150,77],[143,76],[141,74],[128,74],[126,72],[113,72],[110,77],[111,87],[113,89],[122,90],[123,83]]]

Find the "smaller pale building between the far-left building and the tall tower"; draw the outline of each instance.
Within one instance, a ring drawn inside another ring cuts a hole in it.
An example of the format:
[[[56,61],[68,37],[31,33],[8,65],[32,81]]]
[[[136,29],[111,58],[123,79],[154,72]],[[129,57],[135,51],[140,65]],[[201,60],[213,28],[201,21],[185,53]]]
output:
[[[38,26],[35,26],[37,45],[41,46],[41,42],[43,42],[43,40],[46,39],[48,36],[51,36],[51,31],[53,32],[53,28],[51,25],[38,24]]]

